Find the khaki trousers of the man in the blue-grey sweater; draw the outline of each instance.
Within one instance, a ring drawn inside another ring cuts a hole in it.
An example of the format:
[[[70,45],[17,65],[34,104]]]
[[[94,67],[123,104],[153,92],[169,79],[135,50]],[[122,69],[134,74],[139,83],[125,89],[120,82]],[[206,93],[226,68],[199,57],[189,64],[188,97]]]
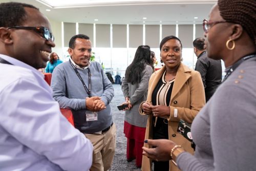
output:
[[[110,169],[116,149],[116,125],[102,134],[85,134],[93,144],[93,164],[90,171]]]

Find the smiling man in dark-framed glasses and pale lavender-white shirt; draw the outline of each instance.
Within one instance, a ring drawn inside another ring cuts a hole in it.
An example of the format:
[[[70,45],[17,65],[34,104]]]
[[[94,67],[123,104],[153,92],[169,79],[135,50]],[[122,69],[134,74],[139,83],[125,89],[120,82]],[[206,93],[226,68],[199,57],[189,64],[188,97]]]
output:
[[[0,170],[89,170],[93,146],[63,117],[37,71],[55,47],[49,20],[0,4]]]

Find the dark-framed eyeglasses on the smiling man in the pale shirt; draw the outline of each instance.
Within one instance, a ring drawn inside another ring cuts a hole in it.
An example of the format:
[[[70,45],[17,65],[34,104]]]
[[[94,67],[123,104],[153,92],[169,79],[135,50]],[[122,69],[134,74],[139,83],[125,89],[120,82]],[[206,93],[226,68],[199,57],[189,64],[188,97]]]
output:
[[[45,27],[24,27],[24,26],[11,26],[7,29],[25,29],[25,30],[35,30],[36,32],[42,33],[40,36],[44,37],[46,40],[54,41],[54,36],[49,29]]]

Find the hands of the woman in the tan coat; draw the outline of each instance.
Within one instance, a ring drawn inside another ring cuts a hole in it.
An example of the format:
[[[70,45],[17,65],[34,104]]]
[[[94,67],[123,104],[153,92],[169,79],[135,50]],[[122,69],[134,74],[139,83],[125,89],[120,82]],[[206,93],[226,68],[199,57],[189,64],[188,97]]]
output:
[[[142,110],[146,115],[153,114],[155,117],[168,118],[170,116],[170,108],[166,105],[152,105],[151,103],[144,102]]]

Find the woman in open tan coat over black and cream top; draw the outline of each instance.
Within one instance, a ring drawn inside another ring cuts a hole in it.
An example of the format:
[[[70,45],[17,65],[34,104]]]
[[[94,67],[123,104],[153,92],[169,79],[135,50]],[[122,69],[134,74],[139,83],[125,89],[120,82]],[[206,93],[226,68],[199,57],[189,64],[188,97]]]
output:
[[[152,74],[146,102],[140,114],[148,115],[145,139],[169,139],[193,153],[191,143],[177,133],[180,119],[191,123],[205,104],[204,87],[199,72],[181,62],[179,38],[167,36],[160,43],[161,60],[165,66]],[[148,147],[147,144],[144,144]],[[178,170],[172,162],[154,162],[154,170]],[[142,170],[151,170],[152,161],[142,159]]]

